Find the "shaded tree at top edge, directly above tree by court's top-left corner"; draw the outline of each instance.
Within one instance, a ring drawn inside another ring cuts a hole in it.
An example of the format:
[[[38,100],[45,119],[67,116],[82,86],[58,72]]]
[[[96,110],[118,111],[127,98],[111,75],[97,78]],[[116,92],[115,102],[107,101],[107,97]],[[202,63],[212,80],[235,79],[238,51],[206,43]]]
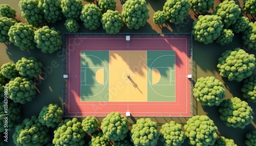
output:
[[[38,8],[44,12],[47,21],[55,23],[63,17],[60,5],[58,0],[39,0]]]

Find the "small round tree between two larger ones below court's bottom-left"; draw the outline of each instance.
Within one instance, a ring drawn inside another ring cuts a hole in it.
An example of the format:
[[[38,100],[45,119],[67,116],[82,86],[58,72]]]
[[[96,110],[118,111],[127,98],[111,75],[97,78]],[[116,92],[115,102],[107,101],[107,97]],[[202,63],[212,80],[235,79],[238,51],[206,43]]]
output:
[[[98,129],[98,121],[95,117],[87,116],[82,120],[82,130],[86,133],[93,133]]]

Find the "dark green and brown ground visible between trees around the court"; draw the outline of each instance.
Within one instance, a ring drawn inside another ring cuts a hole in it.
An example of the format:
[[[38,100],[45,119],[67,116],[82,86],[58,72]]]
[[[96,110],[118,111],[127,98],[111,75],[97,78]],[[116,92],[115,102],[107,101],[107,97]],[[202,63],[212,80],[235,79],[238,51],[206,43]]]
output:
[[[121,4],[124,3],[123,0],[116,0],[117,1],[117,10],[121,12]],[[17,11],[16,19],[25,22],[24,18],[21,16],[21,12],[18,8],[18,0],[8,1],[2,0],[0,4],[8,4],[12,6]],[[163,26],[155,25],[153,21],[153,15],[156,11],[162,10],[162,6],[164,5],[165,1],[156,1],[156,0],[148,0],[147,6],[150,8],[150,19],[147,20],[146,25],[139,29],[139,30],[129,30],[126,26],[121,29],[121,33],[181,33],[181,32],[191,32],[192,24],[194,20],[196,20],[197,15],[190,10],[190,15],[185,19],[184,23],[180,25],[170,24],[166,22]],[[219,0],[215,2],[215,7],[219,4]],[[83,2],[83,4],[86,4]],[[243,3],[242,1],[238,1],[239,6],[242,8]],[[215,8],[214,7],[214,8]],[[212,10],[209,11],[210,13]],[[243,14],[244,15],[244,14]],[[254,18],[248,16],[251,21],[254,21]],[[54,24],[49,24],[49,27],[55,27],[56,30],[60,31],[61,33],[67,32],[64,26],[65,20],[58,21]],[[87,32],[105,32],[102,28],[90,31],[82,26],[80,22],[80,29],[79,32],[87,33]],[[194,83],[200,77],[207,77],[207,76],[214,76],[216,79],[222,81],[225,85],[226,90],[226,98],[232,98],[234,96],[238,96],[242,100],[241,94],[241,83],[236,81],[228,81],[227,79],[223,79],[218,72],[217,63],[218,58],[221,57],[221,54],[226,50],[233,50],[236,47],[241,47],[246,50],[246,52],[250,54],[256,55],[256,51],[247,50],[242,43],[241,34],[235,34],[233,41],[227,45],[219,45],[217,43],[211,43],[205,45],[203,43],[193,41],[193,81]],[[44,79],[43,80],[35,80],[38,93],[36,94],[35,99],[33,101],[28,102],[21,107],[22,111],[22,119],[31,117],[32,115],[38,115],[41,108],[45,105],[50,103],[57,103],[61,106],[61,79],[62,79],[62,72],[61,72],[61,51],[57,51],[53,54],[44,54],[39,49],[30,50],[29,52],[21,51],[18,47],[14,46],[13,44],[5,44],[0,43],[0,66],[7,62],[16,62],[17,60],[21,59],[22,57],[35,57],[38,61],[40,61],[43,65],[43,74],[41,75]],[[55,64],[55,65],[53,65]],[[57,65],[56,65],[57,64]],[[256,111],[255,104],[249,103],[252,107],[253,111]],[[246,126],[245,129],[239,128],[229,128],[224,125],[224,123],[219,118],[218,107],[206,107],[201,106],[200,103],[194,102],[194,115],[208,115],[212,120],[214,120],[216,126],[219,128],[218,133],[226,138],[234,139],[234,142],[238,145],[244,145],[244,141],[246,139],[245,133],[249,131],[255,130],[255,123],[256,117],[253,112],[254,119],[252,123]],[[102,118],[98,118],[99,121]],[[138,117],[129,118],[131,124],[136,123],[136,119]],[[157,123],[166,123],[170,120],[175,120],[177,123],[185,124],[188,118],[170,118],[170,117],[155,117],[152,120],[156,121]],[[159,126],[159,129],[161,126]],[[9,133],[9,142],[6,145],[14,145],[12,143],[12,134],[14,131]],[[162,145],[159,143],[159,145]],[[184,142],[182,145],[188,145],[187,142]]]

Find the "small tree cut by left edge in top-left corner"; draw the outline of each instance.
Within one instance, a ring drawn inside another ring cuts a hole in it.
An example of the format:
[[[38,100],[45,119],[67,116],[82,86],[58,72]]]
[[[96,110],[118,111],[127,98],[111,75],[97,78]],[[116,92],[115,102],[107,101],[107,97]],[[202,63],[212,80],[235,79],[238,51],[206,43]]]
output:
[[[15,19],[16,10],[7,4],[0,5],[0,16]]]

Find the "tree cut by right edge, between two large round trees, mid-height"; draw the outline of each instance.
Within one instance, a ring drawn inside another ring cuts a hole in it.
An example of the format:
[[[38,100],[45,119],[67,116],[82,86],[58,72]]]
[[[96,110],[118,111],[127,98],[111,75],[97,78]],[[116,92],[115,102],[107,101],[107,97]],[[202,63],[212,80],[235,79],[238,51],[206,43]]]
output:
[[[242,87],[243,98],[249,102],[256,102],[256,74],[252,74],[250,77],[243,80]]]

